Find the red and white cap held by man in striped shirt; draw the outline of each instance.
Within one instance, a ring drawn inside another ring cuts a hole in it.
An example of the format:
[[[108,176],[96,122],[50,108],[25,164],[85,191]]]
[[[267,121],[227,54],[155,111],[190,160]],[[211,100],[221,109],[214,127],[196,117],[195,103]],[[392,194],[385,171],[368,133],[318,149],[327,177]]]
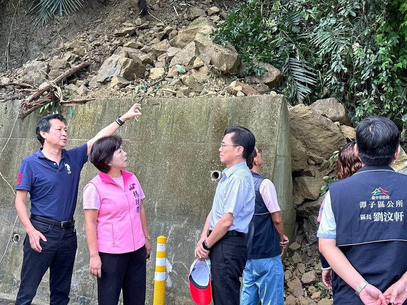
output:
[[[211,261],[195,259],[189,268],[189,291],[197,305],[208,305],[212,300]]]

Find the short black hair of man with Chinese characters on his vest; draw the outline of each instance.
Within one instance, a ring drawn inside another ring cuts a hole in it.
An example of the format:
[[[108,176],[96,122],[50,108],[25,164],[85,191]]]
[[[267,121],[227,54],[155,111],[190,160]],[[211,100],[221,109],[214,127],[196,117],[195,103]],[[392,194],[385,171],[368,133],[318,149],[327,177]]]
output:
[[[356,129],[356,144],[364,165],[390,165],[399,145],[398,128],[386,117],[369,116]]]

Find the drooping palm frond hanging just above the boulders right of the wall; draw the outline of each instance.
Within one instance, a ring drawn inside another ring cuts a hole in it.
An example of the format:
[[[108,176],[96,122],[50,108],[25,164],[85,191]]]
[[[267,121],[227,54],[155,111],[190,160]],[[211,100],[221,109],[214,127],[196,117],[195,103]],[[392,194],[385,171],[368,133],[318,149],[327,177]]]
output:
[[[289,84],[292,94],[297,102],[302,102],[311,93],[309,86],[317,83],[317,75],[313,69],[296,57],[289,57],[283,65],[283,75]]]

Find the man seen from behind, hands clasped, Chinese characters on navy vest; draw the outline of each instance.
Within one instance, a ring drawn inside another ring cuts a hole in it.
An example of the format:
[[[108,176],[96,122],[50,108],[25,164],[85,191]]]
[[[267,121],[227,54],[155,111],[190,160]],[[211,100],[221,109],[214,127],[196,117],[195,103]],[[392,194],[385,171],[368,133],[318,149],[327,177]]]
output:
[[[396,125],[363,119],[355,150],[363,167],[329,186],[317,233],[335,271],[334,304],[407,304],[407,175],[390,167],[400,153]]]

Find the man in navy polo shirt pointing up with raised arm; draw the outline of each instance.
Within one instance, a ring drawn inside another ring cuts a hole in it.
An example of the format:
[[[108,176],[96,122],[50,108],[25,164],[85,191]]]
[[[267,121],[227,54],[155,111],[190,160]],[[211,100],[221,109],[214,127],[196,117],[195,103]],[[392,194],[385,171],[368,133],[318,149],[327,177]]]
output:
[[[50,304],[68,304],[77,248],[73,215],[80,171],[93,143],[112,135],[126,120],[139,116],[140,109],[140,104],[134,104],[93,139],[69,150],[64,149],[68,134],[62,115],[47,115],[39,121],[36,134],[42,147],[22,161],[17,177],[15,207],[27,233],[17,305],[31,304],[48,268]],[[30,217],[25,207],[28,192]]]

